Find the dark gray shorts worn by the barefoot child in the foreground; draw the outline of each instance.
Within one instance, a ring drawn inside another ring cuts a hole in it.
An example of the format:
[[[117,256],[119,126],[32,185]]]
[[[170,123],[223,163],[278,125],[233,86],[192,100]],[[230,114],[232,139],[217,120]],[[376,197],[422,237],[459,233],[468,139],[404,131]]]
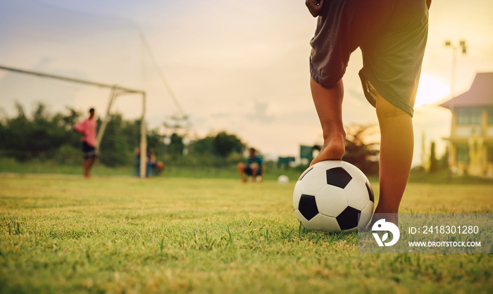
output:
[[[311,77],[325,88],[346,72],[349,56],[363,53],[363,91],[413,115],[428,38],[427,0],[327,0],[311,39]]]

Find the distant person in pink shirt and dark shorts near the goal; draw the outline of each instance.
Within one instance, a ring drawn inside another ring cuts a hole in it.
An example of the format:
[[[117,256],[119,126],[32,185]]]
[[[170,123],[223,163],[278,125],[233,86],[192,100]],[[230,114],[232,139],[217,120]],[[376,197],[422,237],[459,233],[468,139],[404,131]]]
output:
[[[89,110],[89,118],[73,126],[75,131],[84,135],[82,136],[82,156],[84,158],[82,167],[84,169],[84,177],[86,179],[90,177],[89,172],[91,171],[91,167],[94,165],[97,158],[96,125],[97,122],[94,119],[94,108],[91,108]]]

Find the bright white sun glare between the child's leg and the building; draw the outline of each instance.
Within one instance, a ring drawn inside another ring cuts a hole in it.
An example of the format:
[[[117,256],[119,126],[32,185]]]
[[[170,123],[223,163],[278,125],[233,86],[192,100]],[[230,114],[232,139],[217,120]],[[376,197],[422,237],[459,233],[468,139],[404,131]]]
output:
[[[423,106],[425,104],[434,103],[442,98],[445,98],[450,94],[450,88],[447,84],[436,77],[423,74],[421,75],[418,94],[416,94],[415,107]]]

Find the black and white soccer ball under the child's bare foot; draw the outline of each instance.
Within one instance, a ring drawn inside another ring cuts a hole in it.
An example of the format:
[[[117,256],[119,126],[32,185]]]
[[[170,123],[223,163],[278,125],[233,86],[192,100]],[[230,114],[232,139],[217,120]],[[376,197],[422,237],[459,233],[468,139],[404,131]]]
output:
[[[310,230],[363,229],[370,221],[373,203],[373,190],[365,174],[340,160],[308,167],[294,186],[294,214]]]

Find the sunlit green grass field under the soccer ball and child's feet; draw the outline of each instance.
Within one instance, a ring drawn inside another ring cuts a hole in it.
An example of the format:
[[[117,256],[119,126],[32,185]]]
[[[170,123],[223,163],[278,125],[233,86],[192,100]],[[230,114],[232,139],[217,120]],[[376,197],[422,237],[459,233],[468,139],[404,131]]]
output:
[[[293,186],[0,174],[0,293],[492,293],[491,255],[300,229]],[[492,192],[412,183],[402,212],[493,212]]]

